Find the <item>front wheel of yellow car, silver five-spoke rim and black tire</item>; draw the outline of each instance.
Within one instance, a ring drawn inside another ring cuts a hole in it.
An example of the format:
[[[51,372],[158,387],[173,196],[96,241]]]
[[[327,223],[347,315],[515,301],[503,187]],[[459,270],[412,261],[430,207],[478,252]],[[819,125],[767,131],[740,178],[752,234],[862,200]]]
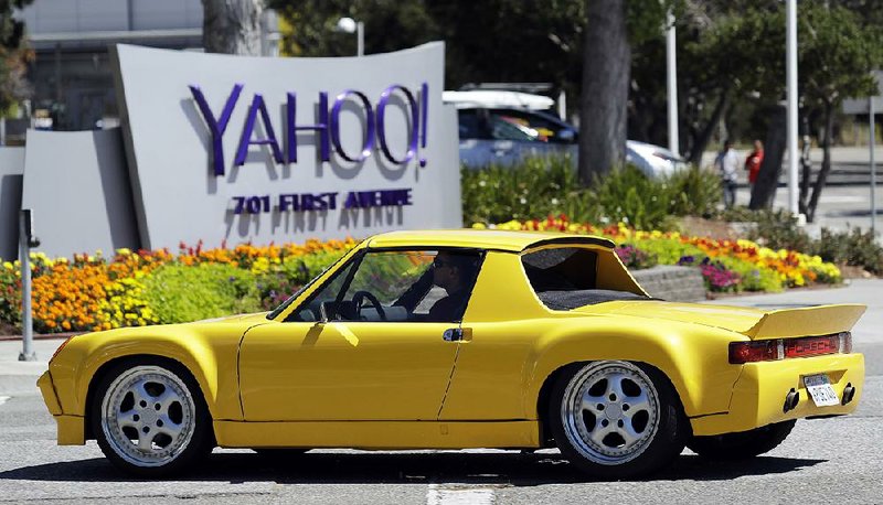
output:
[[[161,358],[113,366],[96,385],[89,422],[105,456],[140,477],[192,470],[214,445],[195,380],[183,366]]]

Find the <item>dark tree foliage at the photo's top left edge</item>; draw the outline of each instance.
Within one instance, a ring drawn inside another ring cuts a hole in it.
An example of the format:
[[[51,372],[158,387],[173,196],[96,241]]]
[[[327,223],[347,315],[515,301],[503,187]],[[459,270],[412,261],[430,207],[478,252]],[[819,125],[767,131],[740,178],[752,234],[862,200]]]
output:
[[[33,51],[24,44],[24,22],[12,18],[13,9],[23,9],[32,1],[0,3],[0,116],[32,93],[25,74]]]

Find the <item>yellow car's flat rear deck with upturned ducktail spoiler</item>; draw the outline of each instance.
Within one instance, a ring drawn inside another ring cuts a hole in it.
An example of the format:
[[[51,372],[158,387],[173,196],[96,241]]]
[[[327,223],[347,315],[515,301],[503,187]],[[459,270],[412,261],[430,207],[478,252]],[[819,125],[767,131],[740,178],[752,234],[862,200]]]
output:
[[[865,309],[861,304],[847,303],[764,311],[744,307],[648,300],[606,302],[581,307],[574,311],[701,324],[741,333],[749,339],[781,339],[849,331]]]

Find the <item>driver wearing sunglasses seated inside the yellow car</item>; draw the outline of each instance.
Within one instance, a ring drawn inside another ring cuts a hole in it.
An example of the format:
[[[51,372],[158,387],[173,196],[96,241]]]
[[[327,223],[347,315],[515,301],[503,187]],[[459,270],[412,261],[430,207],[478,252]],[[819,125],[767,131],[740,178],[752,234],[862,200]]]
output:
[[[433,283],[444,289],[447,297],[429,309],[430,321],[454,321],[462,314],[469,299],[469,281],[475,270],[472,255],[439,251],[433,260]]]

